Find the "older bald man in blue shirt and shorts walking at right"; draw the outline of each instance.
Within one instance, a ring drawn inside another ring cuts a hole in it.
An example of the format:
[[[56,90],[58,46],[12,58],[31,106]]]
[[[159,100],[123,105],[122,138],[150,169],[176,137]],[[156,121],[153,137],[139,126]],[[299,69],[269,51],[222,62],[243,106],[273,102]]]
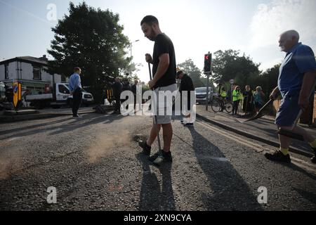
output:
[[[282,102],[277,110],[275,124],[278,129],[300,134],[316,154],[316,139],[302,127],[297,126],[302,110],[307,110],[310,94],[314,93],[316,77],[315,55],[309,46],[298,42],[299,34],[295,30],[284,32],[279,37],[279,47],[286,56],[279,68],[277,87],[270,95],[275,99],[279,92]],[[279,150],[275,153],[265,153],[268,160],[291,162],[289,145],[291,139],[279,134]],[[311,158],[316,163],[315,155]]]

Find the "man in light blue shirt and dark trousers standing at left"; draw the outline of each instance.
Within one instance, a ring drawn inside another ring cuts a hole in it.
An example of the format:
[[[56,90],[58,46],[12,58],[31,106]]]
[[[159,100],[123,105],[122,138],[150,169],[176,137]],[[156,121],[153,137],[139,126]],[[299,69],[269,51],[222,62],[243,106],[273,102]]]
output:
[[[71,75],[69,79],[70,94],[72,94],[72,117],[74,118],[81,117],[78,115],[79,105],[82,99],[80,74],[81,69],[74,68],[74,74]]]

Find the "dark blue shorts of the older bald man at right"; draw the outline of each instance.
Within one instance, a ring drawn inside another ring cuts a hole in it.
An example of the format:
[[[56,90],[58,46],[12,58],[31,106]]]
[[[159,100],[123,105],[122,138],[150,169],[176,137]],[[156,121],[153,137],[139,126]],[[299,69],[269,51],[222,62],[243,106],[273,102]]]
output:
[[[279,127],[291,127],[300,111],[301,107],[298,105],[298,96],[285,96],[277,110],[275,124]]]

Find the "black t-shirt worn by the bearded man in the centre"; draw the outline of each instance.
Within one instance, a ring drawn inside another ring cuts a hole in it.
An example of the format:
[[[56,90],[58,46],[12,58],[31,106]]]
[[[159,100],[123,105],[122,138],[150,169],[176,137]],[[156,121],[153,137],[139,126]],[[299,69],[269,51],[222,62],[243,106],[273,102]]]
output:
[[[166,34],[158,34],[154,41],[154,53],[152,54],[153,66],[152,74],[155,75],[159,64],[159,56],[169,53],[169,68],[157,81],[154,89],[159,86],[169,86],[176,84],[176,54],[171,39]]]

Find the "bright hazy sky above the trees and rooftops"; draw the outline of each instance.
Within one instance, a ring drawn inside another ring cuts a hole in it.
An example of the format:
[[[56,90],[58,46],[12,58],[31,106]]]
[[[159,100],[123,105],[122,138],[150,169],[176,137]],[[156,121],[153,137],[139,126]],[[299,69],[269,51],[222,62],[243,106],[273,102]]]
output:
[[[69,2],[0,0],[0,60],[48,55],[51,27],[69,15]],[[286,30],[297,30],[300,41],[316,50],[315,0],[86,0],[86,4],[119,14],[143,82],[149,80],[145,53],[152,54],[154,46],[140,29],[145,15],[156,16],[162,32],[173,41],[176,63],[190,58],[200,70],[205,53],[228,49],[250,56],[263,71],[271,68],[284,57],[277,41]]]

